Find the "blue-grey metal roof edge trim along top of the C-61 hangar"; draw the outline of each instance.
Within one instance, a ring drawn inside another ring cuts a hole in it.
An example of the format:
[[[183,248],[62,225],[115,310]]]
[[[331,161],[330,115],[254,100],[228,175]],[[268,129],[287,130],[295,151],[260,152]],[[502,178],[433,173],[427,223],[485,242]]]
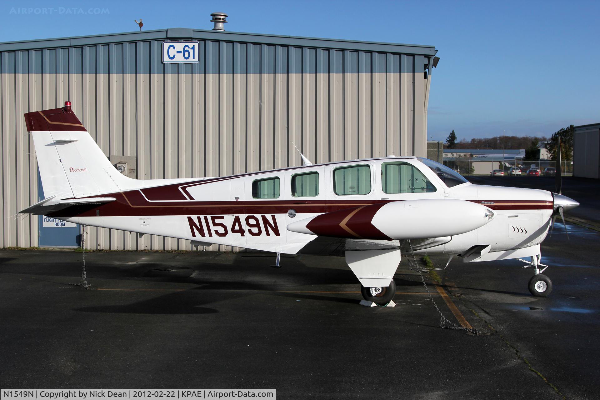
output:
[[[279,44],[281,46],[320,47],[326,49],[362,50],[367,52],[402,53],[424,56],[434,56],[437,53],[435,46],[425,46],[421,44],[309,38],[230,31],[217,32],[191,28],[169,28],[157,29],[155,31],[122,32],[115,34],[2,42],[0,43],[0,52],[52,49],[56,47],[90,46],[95,44],[125,43],[147,40],[179,39],[225,40],[245,43]]]

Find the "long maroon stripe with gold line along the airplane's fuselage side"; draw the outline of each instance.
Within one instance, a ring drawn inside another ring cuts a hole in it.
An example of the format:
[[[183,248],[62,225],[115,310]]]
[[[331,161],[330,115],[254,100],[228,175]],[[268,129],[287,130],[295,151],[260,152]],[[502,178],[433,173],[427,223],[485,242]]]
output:
[[[402,200],[250,200],[250,201],[148,201],[138,190],[109,193],[115,197],[105,204],[71,206],[48,216],[136,216],[136,215],[226,215],[277,214],[294,209],[297,213],[326,213],[370,204],[385,204]],[[469,200],[481,204],[482,200]],[[493,210],[552,209],[552,201],[544,200],[483,200]],[[365,207],[370,209],[370,207]],[[374,211],[376,212],[376,210]],[[374,213],[373,212],[373,213]],[[357,219],[356,221],[359,221]],[[352,228],[352,222],[349,227]]]

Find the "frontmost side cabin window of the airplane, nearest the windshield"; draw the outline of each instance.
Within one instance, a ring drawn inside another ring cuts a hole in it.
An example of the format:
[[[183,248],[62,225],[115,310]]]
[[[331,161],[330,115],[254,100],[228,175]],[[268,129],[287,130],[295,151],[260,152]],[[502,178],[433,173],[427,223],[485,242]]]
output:
[[[402,161],[381,166],[383,193],[431,193],[436,187],[415,166]]]

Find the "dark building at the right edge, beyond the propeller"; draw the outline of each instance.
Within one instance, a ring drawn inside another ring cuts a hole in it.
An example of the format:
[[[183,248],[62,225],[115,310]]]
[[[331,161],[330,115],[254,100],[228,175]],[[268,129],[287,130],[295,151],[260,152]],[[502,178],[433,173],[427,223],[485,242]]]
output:
[[[573,176],[600,178],[600,123],[575,127]]]

